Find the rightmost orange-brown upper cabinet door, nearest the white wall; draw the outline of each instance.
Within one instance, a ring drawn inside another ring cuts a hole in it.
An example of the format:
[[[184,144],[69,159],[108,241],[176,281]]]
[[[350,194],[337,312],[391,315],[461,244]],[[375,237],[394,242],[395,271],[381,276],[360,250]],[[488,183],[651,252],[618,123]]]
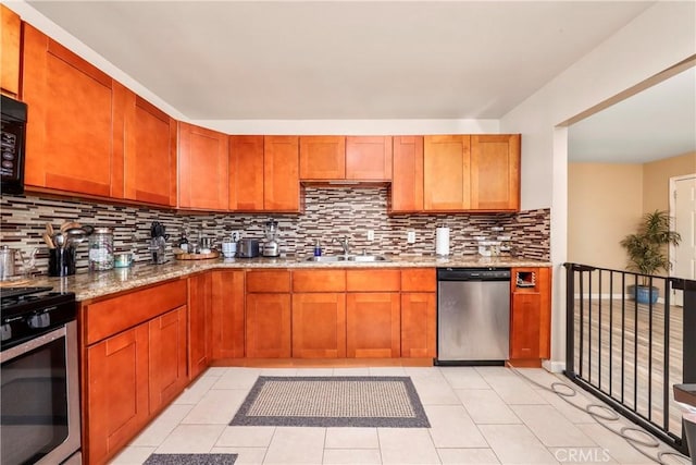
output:
[[[520,209],[520,135],[471,136],[471,209]]]

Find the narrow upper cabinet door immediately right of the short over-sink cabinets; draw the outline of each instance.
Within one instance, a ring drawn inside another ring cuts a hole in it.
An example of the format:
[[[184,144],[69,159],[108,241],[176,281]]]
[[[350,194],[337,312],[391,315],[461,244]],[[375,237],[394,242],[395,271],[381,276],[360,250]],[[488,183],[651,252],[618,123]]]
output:
[[[423,210],[423,137],[394,137],[391,212]]]

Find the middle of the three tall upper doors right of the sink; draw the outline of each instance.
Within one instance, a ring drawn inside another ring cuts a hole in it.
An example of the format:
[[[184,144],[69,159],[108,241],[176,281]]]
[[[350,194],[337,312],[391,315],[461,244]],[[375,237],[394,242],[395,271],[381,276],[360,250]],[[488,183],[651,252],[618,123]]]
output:
[[[424,137],[425,210],[461,211],[470,208],[470,143],[471,137],[467,135]]]

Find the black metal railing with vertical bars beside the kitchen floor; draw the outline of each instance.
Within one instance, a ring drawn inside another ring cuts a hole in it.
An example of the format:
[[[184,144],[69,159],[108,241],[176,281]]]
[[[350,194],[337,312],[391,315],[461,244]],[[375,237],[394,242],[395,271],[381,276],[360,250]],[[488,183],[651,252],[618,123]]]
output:
[[[696,281],[564,267],[566,376],[688,453],[672,387],[696,382]],[[643,280],[647,302],[637,295]],[[683,305],[675,305],[673,291]]]

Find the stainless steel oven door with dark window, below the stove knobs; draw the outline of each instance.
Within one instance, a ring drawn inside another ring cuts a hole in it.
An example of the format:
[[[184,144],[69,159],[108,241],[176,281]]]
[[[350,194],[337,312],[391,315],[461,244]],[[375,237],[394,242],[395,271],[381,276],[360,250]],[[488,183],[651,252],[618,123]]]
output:
[[[0,360],[0,462],[66,461],[79,450],[75,321],[3,351]]]

